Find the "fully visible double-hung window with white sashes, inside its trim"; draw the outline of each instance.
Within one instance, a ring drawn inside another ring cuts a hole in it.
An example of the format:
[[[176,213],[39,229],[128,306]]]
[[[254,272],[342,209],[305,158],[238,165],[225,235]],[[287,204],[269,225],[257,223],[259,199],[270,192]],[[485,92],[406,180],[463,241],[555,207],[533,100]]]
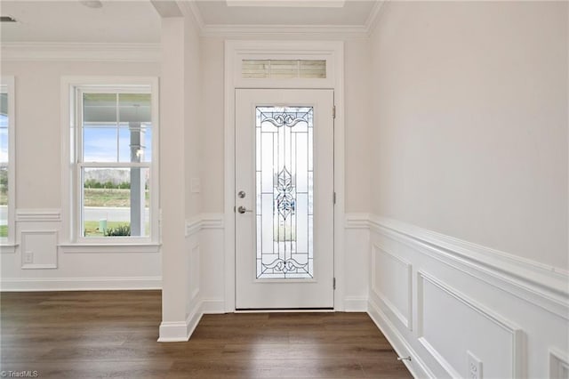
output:
[[[157,240],[155,88],[72,86],[71,240]]]

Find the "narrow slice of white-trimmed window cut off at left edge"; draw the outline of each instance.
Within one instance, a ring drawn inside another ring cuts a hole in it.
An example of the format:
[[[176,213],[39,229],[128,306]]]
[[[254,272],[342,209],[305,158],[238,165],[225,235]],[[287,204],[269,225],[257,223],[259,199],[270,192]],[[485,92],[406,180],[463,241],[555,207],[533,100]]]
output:
[[[14,78],[2,77],[0,83],[0,243],[14,243]]]

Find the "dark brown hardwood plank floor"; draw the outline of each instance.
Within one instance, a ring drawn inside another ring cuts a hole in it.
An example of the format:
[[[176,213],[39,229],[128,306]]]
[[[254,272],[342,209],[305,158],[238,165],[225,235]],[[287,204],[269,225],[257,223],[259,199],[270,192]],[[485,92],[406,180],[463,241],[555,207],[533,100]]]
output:
[[[411,377],[365,313],[205,315],[188,342],[157,343],[160,302],[159,291],[2,293],[0,370],[42,378]]]

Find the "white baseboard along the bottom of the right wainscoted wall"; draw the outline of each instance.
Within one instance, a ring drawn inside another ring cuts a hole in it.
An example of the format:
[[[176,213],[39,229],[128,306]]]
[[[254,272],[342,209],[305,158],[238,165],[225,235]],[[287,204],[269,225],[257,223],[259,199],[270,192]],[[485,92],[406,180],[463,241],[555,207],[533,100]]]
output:
[[[415,378],[436,379],[436,376],[429,370],[422,359],[419,358],[419,355],[413,350],[411,345],[405,341],[403,335],[391,324],[381,308],[371,301],[367,303],[367,306],[367,314],[373,320],[376,327],[381,330],[381,333],[385,335],[385,338],[387,338],[389,344],[397,352],[397,355],[399,357],[411,357],[411,361],[402,360],[411,375]]]

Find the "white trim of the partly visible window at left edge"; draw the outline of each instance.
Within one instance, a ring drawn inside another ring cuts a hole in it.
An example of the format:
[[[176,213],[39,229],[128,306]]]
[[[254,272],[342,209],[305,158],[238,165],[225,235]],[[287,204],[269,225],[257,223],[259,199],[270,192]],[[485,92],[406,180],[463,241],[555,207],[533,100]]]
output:
[[[13,253],[16,243],[16,90],[14,77],[1,77],[8,93],[8,237],[0,238],[3,253]]]

